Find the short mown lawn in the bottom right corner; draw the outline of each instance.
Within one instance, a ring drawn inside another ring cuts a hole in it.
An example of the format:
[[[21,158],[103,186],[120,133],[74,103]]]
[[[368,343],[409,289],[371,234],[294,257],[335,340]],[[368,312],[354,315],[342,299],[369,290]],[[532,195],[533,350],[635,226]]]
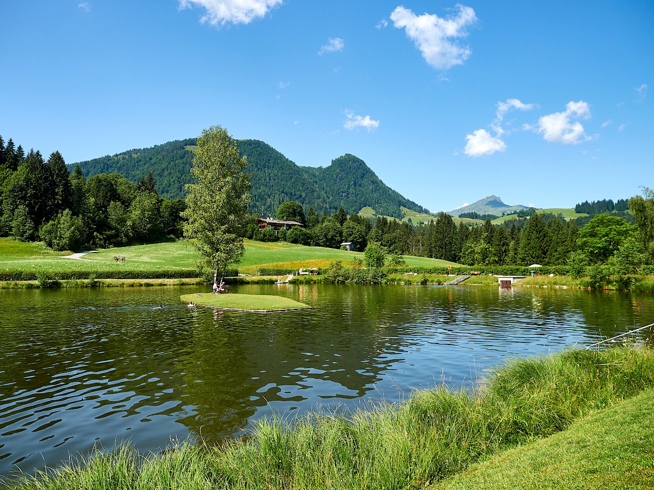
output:
[[[654,488],[654,390],[510,449],[432,490]]]

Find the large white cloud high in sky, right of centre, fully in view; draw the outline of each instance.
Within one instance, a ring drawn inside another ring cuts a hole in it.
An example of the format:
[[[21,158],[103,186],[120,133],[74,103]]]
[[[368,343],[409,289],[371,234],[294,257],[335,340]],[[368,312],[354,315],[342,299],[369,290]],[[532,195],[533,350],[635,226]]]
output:
[[[466,37],[466,26],[477,22],[475,11],[464,5],[457,5],[458,13],[445,18],[436,14],[417,16],[400,5],[390,14],[390,20],[397,29],[404,27],[407,37],[415,42],[422,57],[432,67],[447,70],[462,65],[472,53],[467,46],[457,46],[453,39]]]

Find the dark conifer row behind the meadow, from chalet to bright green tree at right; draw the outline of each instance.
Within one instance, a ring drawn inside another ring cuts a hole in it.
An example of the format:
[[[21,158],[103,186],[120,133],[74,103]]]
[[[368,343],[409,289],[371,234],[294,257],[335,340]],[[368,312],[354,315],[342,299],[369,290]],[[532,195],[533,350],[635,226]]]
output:
[[[457,226],[449,214],[440,214],[427,225],[412,225],[406,221],[389,220],[383,216],[364,218],[356,213],[349,216],[340,208],[332,216],[318,214],[312,207],[305,215],[299,203],[283,203],[277,219],[303,223],[305,227],[260,231],[256,216],[250,218],[245,235],[262,241],[283,240],[290,243],[339,248],[351,242],[353,250],[363,252],[371,243],[379,243],[396,255],[430,257],[465,265],[560,265],[570,252],[577,250],[578,229],[558,216],[547,220],[540,214],[525,218],[523,226],[512,223],[493,225],[487,218],[483,225]]]

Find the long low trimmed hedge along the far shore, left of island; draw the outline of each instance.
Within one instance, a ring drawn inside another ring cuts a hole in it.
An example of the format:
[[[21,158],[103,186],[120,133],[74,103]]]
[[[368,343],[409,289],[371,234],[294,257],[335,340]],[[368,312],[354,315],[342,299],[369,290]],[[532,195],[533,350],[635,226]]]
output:
[[[39,274],[47,274],[56,280],[88,279],[186,279],[196,278],[200,274],[197,270],[188,269],[162,269],[162,270],[60,270],[39,272],[35,270],[0,270],[0,281],[36,281]],[[226,277],[237,277],[237,269],[228,270]]]

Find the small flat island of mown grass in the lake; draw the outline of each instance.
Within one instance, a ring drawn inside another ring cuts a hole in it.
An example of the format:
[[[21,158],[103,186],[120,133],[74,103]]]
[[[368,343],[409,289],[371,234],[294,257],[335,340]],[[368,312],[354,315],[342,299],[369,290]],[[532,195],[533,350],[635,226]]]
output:
[[[182,295],[180,299],[185,303],[193,302],[197,306],[239,312],[282,312],[311,308],[308,304],[275,295],[241,295],[235,293],[215,295],[207,293],[202,296]]]

